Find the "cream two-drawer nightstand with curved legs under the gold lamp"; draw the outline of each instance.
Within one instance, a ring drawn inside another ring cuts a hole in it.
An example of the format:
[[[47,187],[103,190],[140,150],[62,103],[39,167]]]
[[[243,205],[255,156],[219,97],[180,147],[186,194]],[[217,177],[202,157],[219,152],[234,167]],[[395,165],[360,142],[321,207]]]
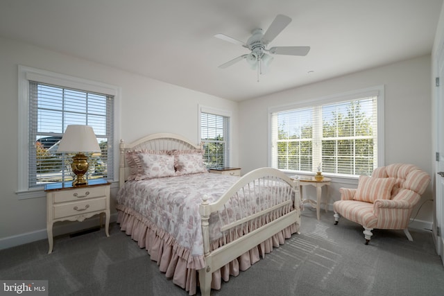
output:
[[[53,252],[53,224],[58,221],[83,221],[105,213],[105,234],[110,236],[110,183],[104,179],[89,180],[85,186],[73,187],[71,183],[60,182],[44,186],[48,254]]]

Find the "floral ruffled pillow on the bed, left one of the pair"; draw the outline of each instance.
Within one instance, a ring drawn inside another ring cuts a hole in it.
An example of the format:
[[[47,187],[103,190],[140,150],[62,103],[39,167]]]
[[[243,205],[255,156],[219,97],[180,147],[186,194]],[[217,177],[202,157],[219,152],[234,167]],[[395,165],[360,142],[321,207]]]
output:
[[[174,171],[174,155],[139,153],[143,173],[136,180],[153,179],[155,177],[172,177]]]

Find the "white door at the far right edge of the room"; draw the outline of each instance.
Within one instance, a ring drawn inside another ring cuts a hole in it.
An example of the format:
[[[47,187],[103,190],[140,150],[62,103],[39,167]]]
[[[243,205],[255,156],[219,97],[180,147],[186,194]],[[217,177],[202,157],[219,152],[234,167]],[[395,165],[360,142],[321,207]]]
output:
[[[444,263],[444,48],[438,55],[438,77],[441,80],[436,89],[436,252],[441,256]]]

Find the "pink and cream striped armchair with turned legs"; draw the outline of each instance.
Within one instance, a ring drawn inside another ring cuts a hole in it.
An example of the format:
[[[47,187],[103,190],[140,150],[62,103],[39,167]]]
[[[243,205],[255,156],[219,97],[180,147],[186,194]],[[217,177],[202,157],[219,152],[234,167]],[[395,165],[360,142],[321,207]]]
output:
[[[360,176],[357,189],[341,188],[334,202],[334,224],[343,216],[364,227],[366,245],[377,229],[403,229],[409,241],[410,214],[430,182],[430,176],[413,164],[375,168],[372,176]]]

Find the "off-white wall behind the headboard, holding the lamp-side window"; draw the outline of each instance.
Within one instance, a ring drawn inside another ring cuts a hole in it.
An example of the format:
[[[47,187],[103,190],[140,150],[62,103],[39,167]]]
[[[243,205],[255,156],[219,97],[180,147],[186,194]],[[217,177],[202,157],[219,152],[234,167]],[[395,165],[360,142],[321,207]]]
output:
[[[230,111],[234,127],[232,166],[239,165],[237,102],[0,38],[0,134],[3,139],[0,141],[0,249],[46,238],[46,199],[18,200],[15,193],[19,64],[121,87],[117,143],[119,139],[130,142],[154,132],[175,132],[198,143],[198,105]],[[116,189],[112,191],[112,198],[115,192]],[[56,223],[55,234],[63,232],[58,225],[64,223]]]

